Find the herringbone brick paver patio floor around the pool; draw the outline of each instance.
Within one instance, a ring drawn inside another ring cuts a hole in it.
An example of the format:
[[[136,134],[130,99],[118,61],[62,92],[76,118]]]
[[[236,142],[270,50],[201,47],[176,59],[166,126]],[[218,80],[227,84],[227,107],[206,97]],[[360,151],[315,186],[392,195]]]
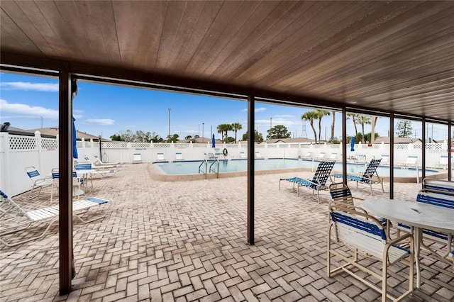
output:
[[[41,240],[0,247],[1,301],[375,301],[353,277],[326,276],[328,192],[267,174],[255,179],[255,245],[248,245],[246,177],[155,181],[148,164],[126,164],[94,179],[88,195],[111,199],[106,218],[74,220],[73,291],[59,296],[58,226]],[[311,172],[301,173],[311,177]],[[354,196],[370,198],[368,186]],[[395,198],[414,200],[419,184],[396,184]],[[389,184],[385,184],[385,191]],[[376,197],[388,197],[381,189]],[[49,206],[50,191],[23,208]],[[96,211],[103,211],[96,207]],[[27,233],[43,230],[37,223]],[[11,238],[10,238],[11,239]],[[454,301],[453,267],[422,252],[422,286],[404,301]],[[373,266],[373,264],[371,264]],[[404,292],[405,267],[391,269],[390,291]],[[371,279],[370,281],[375,280]]]

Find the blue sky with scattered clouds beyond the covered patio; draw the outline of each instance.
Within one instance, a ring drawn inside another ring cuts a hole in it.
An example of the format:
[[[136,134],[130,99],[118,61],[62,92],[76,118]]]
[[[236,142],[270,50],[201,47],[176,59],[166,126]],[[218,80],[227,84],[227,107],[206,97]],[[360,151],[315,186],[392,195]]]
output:
[[[0,123],[6,121],[11,126],[24,130],[58,125],[58,80],[50,77],[31,77],[23,74],[0,74]],[[211,127],[216,138],[221,138],[216,127],[221,123],[240,123],[240,139],[248,128],[247,102],[221,99],[193,94],[177,94],[167,91],[138,89],[92,82],[78,82],[79,91],[74,99],[74,118],[79,131],[92,135],[111,135],[124,130],[143,130],[157,133],[162,138],[177,133],[179,139],[187,135],[204,135],[209,138]],[[301,121],[301,115],[308,108],[276,106],[256,102],[255,129],[264,136],[272,126],[284,125],[292,137],[305,137],[305,124],[308,138],[314,138],[309,122]],[[325,131],[331,135],[331,116],[322,119],[322,140]],[[380,136],[388,135],[387,118],[379,118],[375,131]],[[421,134],[421,124],[413,123],[416,135]],[[341,114],[336,114],[336,137],[341,137]],[[354,135],[353,123],[347,123],[348,135]],[[435,128],[434,137],[443,138],[447,128]],[[446,129],[446,130],[445,130]],[[318,125],[316,125],[318,133]],[[366,125],[365,132],[370,132]],[[360,131],[360,126],[358,127]],[[234,136],[234,133],[229,133]]]

